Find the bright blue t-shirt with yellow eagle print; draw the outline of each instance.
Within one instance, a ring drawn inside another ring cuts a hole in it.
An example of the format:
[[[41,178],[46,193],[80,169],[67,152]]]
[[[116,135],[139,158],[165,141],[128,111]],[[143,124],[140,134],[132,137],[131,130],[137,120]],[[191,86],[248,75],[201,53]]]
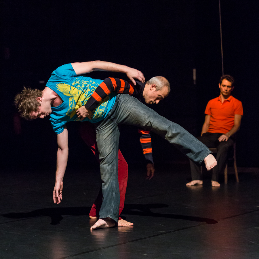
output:
[[[49,115],[49,120],[56,134],[63,132],[67,122],[80,121],[76,110],[85,105],[88,98],[102,81],[76,75],[71,64],[60,66],[52,72],[46,86],[56,92],[63,100],[59,106],[51,107],[52,113]],[[85,118],[83,121],[92,123],[102,121],[111,111],[115,103],[115,96],[115,93],[109,94],[93,111],[92,119]]]

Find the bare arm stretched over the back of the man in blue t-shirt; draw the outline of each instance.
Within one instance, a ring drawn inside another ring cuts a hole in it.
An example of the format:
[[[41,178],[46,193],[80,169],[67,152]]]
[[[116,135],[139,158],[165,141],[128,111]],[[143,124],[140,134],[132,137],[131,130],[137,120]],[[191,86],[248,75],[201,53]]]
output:
[[[121,72],[121,73],[125,73],[134,85],[136,85],[134,78],[138,79],[142,83],[145,82],[145,77],[142,74],[142,72],[138,71],[135,68],[115,64],[112,62],[96,60],[96,61],[81,62],[81,63],[76,62],[76,63],[72,63],[72,66],[77,75],[90,73],[90,72],[96,71],[96,70]]]

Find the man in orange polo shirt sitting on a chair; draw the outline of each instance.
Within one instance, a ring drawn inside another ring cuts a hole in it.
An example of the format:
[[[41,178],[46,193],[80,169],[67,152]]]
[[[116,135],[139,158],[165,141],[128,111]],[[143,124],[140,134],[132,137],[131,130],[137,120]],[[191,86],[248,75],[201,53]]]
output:
[[[212,186],[220,186],[218,174],[226,166],[228,148],[233,145],[233,134],[240,127],[243,115],[242,103],[231,96],[234,89],[234,79],[230,75],[223,75],[219,81],[220,96],[210,100],[205,109],[205,122],[201,136],[198,137],[209,148],[217,148],[217,165],[212,172]],[[203,184],[201,171],[192,161],[192,181],[186,186]]]

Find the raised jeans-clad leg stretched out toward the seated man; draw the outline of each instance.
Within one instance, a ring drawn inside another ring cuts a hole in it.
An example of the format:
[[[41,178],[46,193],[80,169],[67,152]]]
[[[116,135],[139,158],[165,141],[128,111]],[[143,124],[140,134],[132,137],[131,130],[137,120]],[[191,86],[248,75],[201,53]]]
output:
[[[117,124],[135,125],[157,133],[198,165],[211,154],[204,144],[183,127],[160,116],[132,96],[120,95],[111,114],[111,119]],[[210,165],[209,163],[206,167]]]

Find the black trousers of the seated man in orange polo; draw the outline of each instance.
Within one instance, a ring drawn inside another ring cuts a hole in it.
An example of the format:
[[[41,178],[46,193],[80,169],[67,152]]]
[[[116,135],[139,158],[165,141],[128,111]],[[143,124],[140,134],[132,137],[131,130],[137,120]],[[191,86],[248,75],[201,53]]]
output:
[[[218,138],[223,133],[203,133],[201,137],[197,139],[201,141],[208,148],[217,148],[217,165],[212,169],[212,181],[218,182],[218,174],[221,172],[226,166],[226,160],[228,155],[228,148],[234,144],[233,139],[229,138],[227,141],[218,141]],[[191,175],[192,180],[202,180],[200,167],[195,165],[193,161],[190,160],[191,165]]]

